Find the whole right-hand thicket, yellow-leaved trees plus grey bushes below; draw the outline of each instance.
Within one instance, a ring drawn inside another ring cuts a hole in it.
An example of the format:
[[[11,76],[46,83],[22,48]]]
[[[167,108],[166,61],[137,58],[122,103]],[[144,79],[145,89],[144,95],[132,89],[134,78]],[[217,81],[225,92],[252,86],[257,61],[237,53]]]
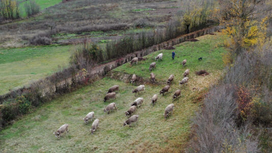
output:
[[[193,119],[188,151],[270,152],[262,146],[268,138],[260,142],[262,131],[257,130],[272,126],[272,50],[266,35],[269,17],[260,14],[267,11],[260,11],[259,1],[219,2],[221,23],[227,27],[223,32],[230,36],[230,56],[223,57],[229,59],[225,62],[228,67]]]

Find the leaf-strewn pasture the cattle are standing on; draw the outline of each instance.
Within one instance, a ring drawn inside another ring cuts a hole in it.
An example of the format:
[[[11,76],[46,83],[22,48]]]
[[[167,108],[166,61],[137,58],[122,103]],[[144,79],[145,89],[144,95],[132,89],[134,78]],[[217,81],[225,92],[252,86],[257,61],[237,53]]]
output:
[[[155,61],[155,56],[164,53],[162,61],[158,62],[153,71],[159,84],[145,84],[145,93],[134,96],[132,90],[136,88],[131,84],[104,78],[93,84],[83,87],[75,92],[65,94],[50,103],[44,104],[34,113],[23,116],[13,125],[0,132],[1,152],[180,152],[186,148],[190,135],[191,117],[199,108],[197,99],[202,93],[207,92],[211,84],[215,84],[220,78],[224,64],[221,53],[226,52],[220,46],[224,37],[219,35],[206,35],[197,38],[197,42],[184,42],[176,45],[176,59],[171,60],[171,50],[159,50],[146,56],[146,61],[140,61],[138,65],[124,64],[113,73],[135,73],[148,80],[149,64]],[[203,57],[202,61],[197,58]],[[180,63],[187,59],[187,65],[182,67]],[[179,86],[178,81],[185,69],[190,69],[189,83]],[[206,69],[209,75],[202,77],[193,72]],[[151,97],[166,85],[169,74],[174,74],[174,82],[170,91],[164,96],[159,95],[158,101],[153,107]],[[111,100],[118,107],[117,111],[104,114],[103,108],[109,102],[104,103],[103,98],[107,89],[113,85],[119,85],[116,99]],[[175,101],[172,94],[177,89],[182,90],[182,96]],[[136,111],[139,122],[132,127],[122,127],[127,119],[125,111],[137,98],[143,97],[144,102]],[[164,119],[163,112],[168,104],[174,103],[174,113]],[[95,117],[100,119],[100,125],[94,135],[89,130],[91,122],[85,125],[82,118],[94,111]],[[69,133],[56,139],[53,132],[62,124],[69,124]]]

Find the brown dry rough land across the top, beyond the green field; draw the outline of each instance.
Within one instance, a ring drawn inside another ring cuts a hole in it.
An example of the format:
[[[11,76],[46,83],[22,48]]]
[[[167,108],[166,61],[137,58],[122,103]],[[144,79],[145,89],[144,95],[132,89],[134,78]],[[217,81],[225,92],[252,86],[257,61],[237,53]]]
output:
[[[57,33],[125,30],[164,26],[180,10],[176,1],[70,1],[45,9],[41,15],[0,25],[1,45],[14,46]],[[172,7],[167,9],[167,7]],[[151,13],[153,10],[167,10]],[[136,9],[136,11],[135,11]],[[139,9],[139,11],[137,11]],[[143,9],[143,11],[141,11]],[[145,10],[147,9],[147,10]],[[99,13],[98,13],[99,12]],[[44,38],[43,38],[44,39]],[[13,43],[13,44],[11,44]],[[26,43],[28,44],[28,43]]]

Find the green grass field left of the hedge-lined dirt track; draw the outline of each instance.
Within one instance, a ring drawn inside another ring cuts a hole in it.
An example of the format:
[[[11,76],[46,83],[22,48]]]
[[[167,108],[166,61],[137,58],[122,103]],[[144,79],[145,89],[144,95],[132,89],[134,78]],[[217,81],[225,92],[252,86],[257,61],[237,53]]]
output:
[[[0,94],[28,85],[66,66],[71,46],[37,46],[0,49]]]

